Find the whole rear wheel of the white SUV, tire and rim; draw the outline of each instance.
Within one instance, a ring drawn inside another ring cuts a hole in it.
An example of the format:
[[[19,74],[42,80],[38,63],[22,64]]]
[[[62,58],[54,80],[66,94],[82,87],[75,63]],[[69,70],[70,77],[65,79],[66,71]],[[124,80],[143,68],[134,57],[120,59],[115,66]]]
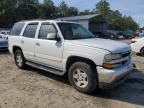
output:
[[[15,59],[15,64],[17,65],[19,69],[23,69],[25,67],[26,60],[20,49],[15,51],[14,59]]]

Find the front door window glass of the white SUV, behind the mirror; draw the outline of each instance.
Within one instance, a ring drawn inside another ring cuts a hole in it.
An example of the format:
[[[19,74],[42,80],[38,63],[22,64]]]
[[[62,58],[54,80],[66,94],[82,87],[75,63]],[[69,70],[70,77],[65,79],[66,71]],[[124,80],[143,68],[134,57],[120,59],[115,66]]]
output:
[[[38,38],[39,39],[47,39],[47,34],[49,34],[49,33],[56,33],[56,32],[57,31],[56,31],[54,25],[48,24],[48,23],[43,23],[41,25]]]

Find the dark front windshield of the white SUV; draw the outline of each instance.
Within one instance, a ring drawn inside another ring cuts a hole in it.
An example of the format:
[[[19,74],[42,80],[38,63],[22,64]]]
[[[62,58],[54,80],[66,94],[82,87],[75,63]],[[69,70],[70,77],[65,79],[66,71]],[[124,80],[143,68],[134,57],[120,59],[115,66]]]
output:
[[[94,35],[80,24],[58,23],[58,26],[66,40],[94,38]]]

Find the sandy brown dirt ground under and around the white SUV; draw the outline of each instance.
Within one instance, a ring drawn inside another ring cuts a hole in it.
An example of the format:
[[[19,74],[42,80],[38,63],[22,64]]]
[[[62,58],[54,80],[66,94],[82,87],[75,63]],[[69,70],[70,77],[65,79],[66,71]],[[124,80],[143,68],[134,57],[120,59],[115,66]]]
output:
[[[73,89],[65,77],[31,67],[19,70],[13,56],[0,54],[0,108],[144,108],[144,58],[121,86],[91,95]]]

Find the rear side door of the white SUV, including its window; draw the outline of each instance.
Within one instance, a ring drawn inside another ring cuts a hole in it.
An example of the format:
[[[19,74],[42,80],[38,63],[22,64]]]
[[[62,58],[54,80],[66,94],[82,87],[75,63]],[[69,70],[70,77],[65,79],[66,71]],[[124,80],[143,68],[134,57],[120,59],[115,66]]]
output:
[[[27,60],[35,61],[34,59],[34,49],[35,49],[35,34],[37,31],[38,23],[29,23],[21,38],[22,50],[25,58]]]

